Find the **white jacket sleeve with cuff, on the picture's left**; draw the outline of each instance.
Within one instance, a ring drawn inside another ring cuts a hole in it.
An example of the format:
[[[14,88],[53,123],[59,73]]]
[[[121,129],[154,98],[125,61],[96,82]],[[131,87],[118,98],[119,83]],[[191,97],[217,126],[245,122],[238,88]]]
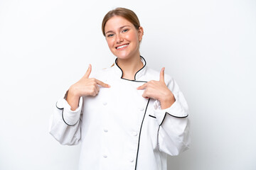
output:
[[[80,97],[79,106],[75,111],[71,111],[70,108],[64,96],[57,101],[53,115],[50,117],[50,135],[53,135],[61,145],[78,145],[80,142],[82,97]]]

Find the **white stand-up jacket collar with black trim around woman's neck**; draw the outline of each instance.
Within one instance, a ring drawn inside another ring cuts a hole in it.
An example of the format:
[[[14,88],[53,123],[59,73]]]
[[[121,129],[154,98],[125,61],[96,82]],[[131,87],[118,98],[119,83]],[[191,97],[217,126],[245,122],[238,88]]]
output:
[[[143,67],[142,67],[142,69],[139,69],[139,71],[134,75],[134,80],[130,80],[130,81],[137,81],[137,80],[139,80],[140,77],[142,77],[146,73],[146,60],[144,59],[144,57],[142,57],[142,56],[140,56],[140,57],[141,57],[141,61],[143,63]],[[123,72],[122,72],[122,69],[117,65],[117,59],[114,61],[114,72],[117,74],[117,76],[120,79],[123,79],[122,78]],[[129,80],[129,79],[127,79],[127,80]]]

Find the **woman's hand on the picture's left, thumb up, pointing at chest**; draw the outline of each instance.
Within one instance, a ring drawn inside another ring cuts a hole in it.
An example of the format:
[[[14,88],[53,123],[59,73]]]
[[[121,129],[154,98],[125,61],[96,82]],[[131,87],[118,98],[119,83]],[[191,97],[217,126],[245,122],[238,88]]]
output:
[[[89,78],[90,73],[92,72],[92,65],[89,64],[89,68],[85,75],[75,84],[70,86],[68,89],[68,96],[66,100],[71,106],[71,111],[75,111],[78,108],[80,96],[96,96],[100,91],[100,86],[109,88],[109,84],[105,84],[100,80],[95,78]]]

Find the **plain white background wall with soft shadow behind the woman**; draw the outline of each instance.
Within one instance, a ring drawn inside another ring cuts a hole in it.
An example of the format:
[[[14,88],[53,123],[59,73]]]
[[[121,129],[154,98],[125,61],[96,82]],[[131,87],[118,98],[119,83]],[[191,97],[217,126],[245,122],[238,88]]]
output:
[[[169,170],[256,169],[256,1],[0,1],[0,169],[78,169],[80,146],[48,134],[55,101],[114,57],[102,18],[122,6],[141,54],[166,67],[190,106],[191,149]]]

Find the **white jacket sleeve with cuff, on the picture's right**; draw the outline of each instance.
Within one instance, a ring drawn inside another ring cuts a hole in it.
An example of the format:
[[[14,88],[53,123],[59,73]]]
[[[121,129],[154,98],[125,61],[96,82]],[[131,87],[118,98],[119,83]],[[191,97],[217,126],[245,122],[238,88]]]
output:
[[[190,144],[188,105],[174,79],[171,79],[167,86],[176,101],[170,108],[163,110],[160,102],[155,101],[154,115],[159,124],[159,150],[174,156],[188,149]]]

